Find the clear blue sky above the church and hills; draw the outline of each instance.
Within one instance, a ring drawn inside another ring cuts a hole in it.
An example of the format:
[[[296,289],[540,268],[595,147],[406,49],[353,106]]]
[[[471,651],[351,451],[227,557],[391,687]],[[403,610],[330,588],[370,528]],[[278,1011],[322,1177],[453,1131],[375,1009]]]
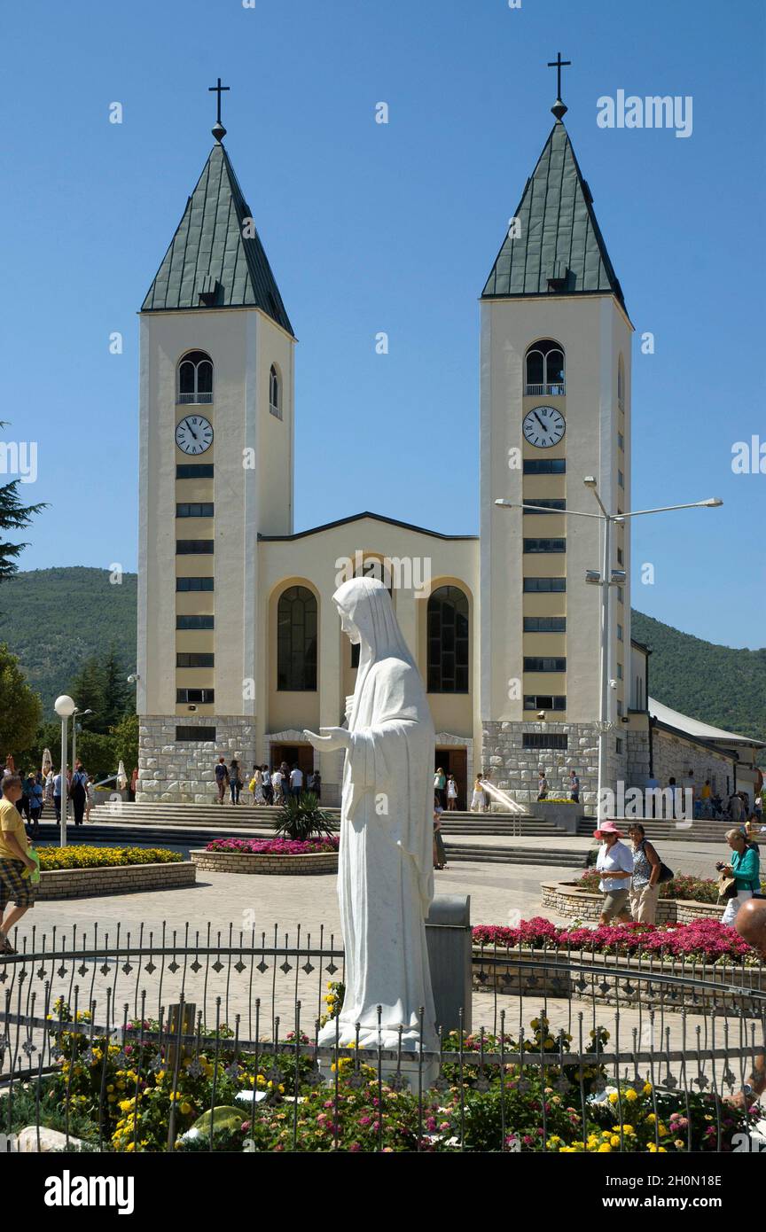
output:
[[[103,0],[4,17],[0,334],[22,568],[134,569],[135,312],[212,145],[227,148],[299,338],[296,529],[358,513],[478,530],[478,304],[546,140],[566,124],[637,333],[634,606],[762,646],[762,0]],[[601,129],[596,100],[692,95],[693,134]],[[390,107],[374,123],[376,102]],[[121,126],[108,105],[124,107]],[[108,335],[124,335],[122,356]],[[390,338],[374,354],[378,330]],[[341,361],[342,357],[342,361]],[[757,377],[757,381],[755,378]],[[755,386],[754,386],[755,381]],[[638,567],[655,565],[642,585]]]

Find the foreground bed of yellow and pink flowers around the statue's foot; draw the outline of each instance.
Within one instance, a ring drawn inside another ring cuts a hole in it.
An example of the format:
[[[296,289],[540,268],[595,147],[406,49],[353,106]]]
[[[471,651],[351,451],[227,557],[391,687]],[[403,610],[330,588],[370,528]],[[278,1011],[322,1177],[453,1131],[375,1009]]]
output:
[[[144,1040],[158,1023],[129,1024],[119,1046],[68,1030],[71,1014],[62,1003],[54,1016],[57,1068],[39,1085],[16,1089],[7,1130],[39,1121],[101,1151],[165,1152],[170,1131],[182,1152],[683,1153],[732,1151],[734,1135],[756,1119],[713,1090],[667,1090],[638,1074],[608,1087],[600,1060],[608,1032],[590,1032],[581,1064],[568,1061],[571,1036],[554,1036],[544,1016],[523,1040],[452,1032],[442,1089],[421,1099],[350,1057],[339,1060],[330,1083],[316,1083],[307,1036],[296,1041],[299,1050],[254,1055],[225,1027],[216,1039],[203,1031],[176,1067],[165,1042]],[[78,1019],[86,1024],[89,1015]],[[528,1052],[530,1063],[501,1069],[479,1056],[501,1050]],[[544,1067],[533,1060],[542,1053]]]

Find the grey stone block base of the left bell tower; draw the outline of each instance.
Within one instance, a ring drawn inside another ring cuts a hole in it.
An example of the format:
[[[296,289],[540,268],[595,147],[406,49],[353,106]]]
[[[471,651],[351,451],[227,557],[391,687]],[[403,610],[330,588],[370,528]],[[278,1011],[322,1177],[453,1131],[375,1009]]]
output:
[[[216,740],[176,740],[176,727],[214,727]],[[218,800],[216,763],[236,758],[248,782],[256,760],[255,719],[236,715],[142,715],[135,798],[211,804]]]

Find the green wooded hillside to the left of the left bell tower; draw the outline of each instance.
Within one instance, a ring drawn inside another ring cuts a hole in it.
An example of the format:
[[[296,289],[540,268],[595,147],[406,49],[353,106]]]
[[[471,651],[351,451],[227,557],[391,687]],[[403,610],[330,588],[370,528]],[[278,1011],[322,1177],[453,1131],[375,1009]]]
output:
[[[135,670],[135,598],[138,578],[124,573],[110,582],[108,569],[34,569],[0,585],[0,641],[7,642],[43,713],[91,654],[113,647],[126,674]]]

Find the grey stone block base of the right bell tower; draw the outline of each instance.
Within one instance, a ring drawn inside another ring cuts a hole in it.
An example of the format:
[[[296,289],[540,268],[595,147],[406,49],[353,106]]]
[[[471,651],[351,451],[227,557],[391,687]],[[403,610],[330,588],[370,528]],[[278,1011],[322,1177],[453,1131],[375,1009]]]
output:
[[[525,733],[562,734],[568,737],[568,748],[525,749]],[[608,734],[607,776],[612,786],[626,776],[627,732],[616,728]],[[616,739],[621,738],[623,752],[616,752]],[[596,807],[599,787],[599,733],[595,723],[512,723],[484,721],[482,723],[482,759],[475,761],[477,771],[491,772],[491,782],[507,791],[520,804],[537,800],[537,771],[546,770],[548,795],[569,796],[569,771],[580,779],[580,803],[589,811]]]

